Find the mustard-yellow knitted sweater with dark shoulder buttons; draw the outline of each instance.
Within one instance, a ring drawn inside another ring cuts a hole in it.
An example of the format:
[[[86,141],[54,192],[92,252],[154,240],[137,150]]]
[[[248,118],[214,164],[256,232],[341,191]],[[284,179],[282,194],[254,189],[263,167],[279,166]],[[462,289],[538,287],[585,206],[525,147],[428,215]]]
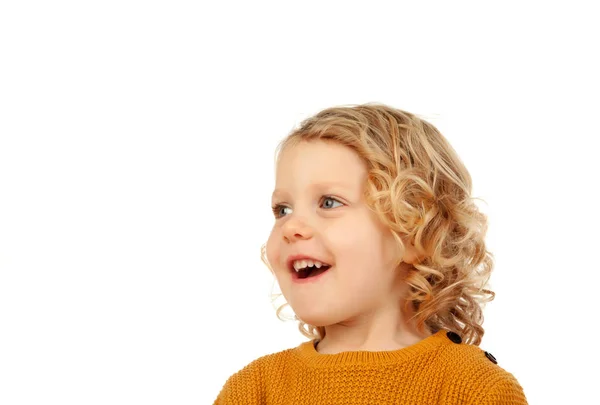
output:
[[[227,380],[214,405],[527,404],[491,353],[454,332],[395,351],[321,354],[314,343],[254,360]]]

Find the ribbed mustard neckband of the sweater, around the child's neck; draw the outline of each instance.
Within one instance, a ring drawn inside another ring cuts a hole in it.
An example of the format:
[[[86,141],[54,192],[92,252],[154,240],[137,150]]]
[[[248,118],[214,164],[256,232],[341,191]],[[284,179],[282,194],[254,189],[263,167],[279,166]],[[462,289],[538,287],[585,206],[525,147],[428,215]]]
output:
[[[315,367],[365,363],[398,363],[407,361],[415,356],[430,352],[444,344],[450,343],[450,340],[446,337],[446,333],[446,330],[440,329],[438,332],[413,345],[392,351],[369,352],[361,350],[340,352],[336,354],[322,354],[315,349],[315,340],[310,340],[300,344],[300,346],[294,349],[294,353],[307,365]]]

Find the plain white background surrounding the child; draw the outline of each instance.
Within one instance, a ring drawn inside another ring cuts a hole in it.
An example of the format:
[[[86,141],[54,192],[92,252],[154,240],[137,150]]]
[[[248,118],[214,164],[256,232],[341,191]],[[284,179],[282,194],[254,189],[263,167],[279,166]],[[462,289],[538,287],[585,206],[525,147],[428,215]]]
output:
[[[480,347],[531,404],[598,403],[592,6],[213,3],[1,3],[0,403],[209,404],[304,341],[259,259],[274,149],[364,102],[430,120],[486,201]]]

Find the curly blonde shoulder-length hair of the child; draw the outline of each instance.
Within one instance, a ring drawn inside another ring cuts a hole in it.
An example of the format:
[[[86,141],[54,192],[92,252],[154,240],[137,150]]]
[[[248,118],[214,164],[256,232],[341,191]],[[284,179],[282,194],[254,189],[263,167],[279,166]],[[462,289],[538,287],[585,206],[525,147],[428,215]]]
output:
[[[495,297],[484,288],[494,261],[484,241],[487,217],[471,197],[471,176],[449,142],[426,120],[379,103],[327,108],[302,121],[276,153],[311,140],[345,145],[366,162],[367,205],[402,252],[401,238],[415,247],[420,260],[406,278],[403,311],[412,305],[418,330],[446,329],[479,345],[482,306]],[[266,244],[261,259],[272,272]],[[277,309],[280,319],[285,305]],[[304,336],[325,336],[324,327],[295,319]]]

